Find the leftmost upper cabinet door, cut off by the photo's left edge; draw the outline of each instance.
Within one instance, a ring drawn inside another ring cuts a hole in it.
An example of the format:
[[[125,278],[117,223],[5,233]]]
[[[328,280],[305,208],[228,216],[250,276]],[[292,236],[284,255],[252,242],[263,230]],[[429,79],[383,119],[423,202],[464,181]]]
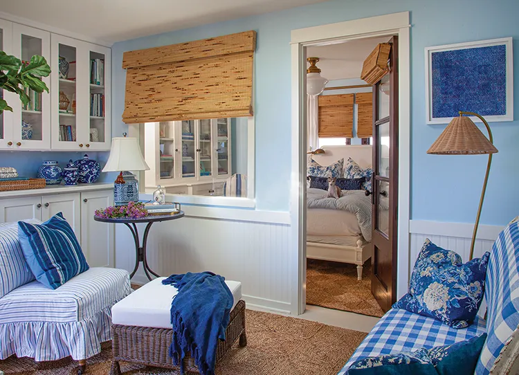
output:
[[[0,19],[0,51],[12,55],[12,24],[9,21]],[[0,98],[6,100],[12,107],[18,95],[8,91],[0,90]],[[0,114],[0,149],[13,149],[12,143],[12,112],[3,111]]]

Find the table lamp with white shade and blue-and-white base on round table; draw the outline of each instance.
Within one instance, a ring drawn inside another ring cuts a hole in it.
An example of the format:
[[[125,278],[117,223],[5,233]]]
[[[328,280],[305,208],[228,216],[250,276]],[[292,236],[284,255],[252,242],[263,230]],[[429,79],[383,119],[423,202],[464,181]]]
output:
[[[127,205],[139,200],[138,183],[134,174],[127,171],[149,170],[137,138],[116,137],[111,140],[110,156],[102,172],[120,172],[113,183],[113,202],[115,205]],[[123,173],[124,172],[124,173]],[[126,177],[126,179],[124,178]]]

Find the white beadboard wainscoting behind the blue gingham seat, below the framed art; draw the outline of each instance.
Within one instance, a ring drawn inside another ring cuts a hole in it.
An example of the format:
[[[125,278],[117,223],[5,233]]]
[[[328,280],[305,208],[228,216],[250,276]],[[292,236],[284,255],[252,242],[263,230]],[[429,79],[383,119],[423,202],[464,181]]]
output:
[[[424,245],[426,238],[436,245],[454,250],[462,256],[463,262],[468,261],[471,249],[473,223],[444,223],[439,221],[411,220],[410,232],[410,271]],[[474,257],[481,257],[485,251],[490,251],[499,232],[504,227],[480,224],[474,246]]]

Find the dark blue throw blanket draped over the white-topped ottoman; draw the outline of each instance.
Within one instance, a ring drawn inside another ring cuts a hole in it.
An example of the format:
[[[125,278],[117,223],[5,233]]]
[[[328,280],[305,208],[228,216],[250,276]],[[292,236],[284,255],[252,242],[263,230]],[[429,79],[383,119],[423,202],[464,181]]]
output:
[[[190,353],[200,374],[215,374],[218,340],[226,339],[233,293],[225,278],[210,272],[171,275],[163,280],[179,289],[171,303],[173,341],[170,356],[184,374],[183,358]]]

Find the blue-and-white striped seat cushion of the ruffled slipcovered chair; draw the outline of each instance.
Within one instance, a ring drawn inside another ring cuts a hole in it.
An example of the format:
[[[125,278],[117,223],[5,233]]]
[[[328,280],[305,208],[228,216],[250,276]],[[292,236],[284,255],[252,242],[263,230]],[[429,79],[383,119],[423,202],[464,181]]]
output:
[[[110,308],[122,291],[129,293],[129,275],[115,268],[90,268],[57,289],[33,281],[0,298],[0,323],[78,322]]]

